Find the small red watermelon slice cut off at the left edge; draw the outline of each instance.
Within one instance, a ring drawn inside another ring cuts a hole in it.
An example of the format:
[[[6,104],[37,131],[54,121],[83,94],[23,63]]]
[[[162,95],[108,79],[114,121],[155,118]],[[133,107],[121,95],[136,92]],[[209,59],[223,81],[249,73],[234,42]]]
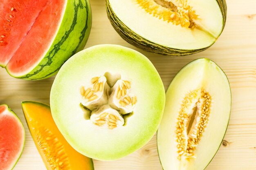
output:
[[[25,130],[17,115],[0,105],[0,170],[12,170],[22,154]]]

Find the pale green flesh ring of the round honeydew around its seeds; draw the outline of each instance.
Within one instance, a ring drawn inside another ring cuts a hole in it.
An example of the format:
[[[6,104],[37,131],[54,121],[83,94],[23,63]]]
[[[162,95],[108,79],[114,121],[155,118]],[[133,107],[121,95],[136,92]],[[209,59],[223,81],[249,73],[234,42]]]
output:
[[[80,88],[92,77],[120,74],[137,96],[126,126],[110,130],[85,119]],[[65,139],[77,151],[99,160],[124,157],[144,146],[155,134],[164,109],[164,86],[153,64],[137,51],[98,45],[71,57],[60,69],[50,95],[52,116]]]

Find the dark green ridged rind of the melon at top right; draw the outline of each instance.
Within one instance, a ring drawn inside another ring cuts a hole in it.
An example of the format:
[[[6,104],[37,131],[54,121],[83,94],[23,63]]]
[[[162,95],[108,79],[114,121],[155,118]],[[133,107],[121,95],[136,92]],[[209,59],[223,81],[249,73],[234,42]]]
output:
[[[217,0],[217,2],[219,4],[220,10],[222,12],[222,17],[223,17],[223,22],[224,22],[223,27],[222,27],[222,31],[223,31],[223,29],[225,27],[226,18],[227,18],[227,4],[226,4],[225,0]],[[109,18],[112,26],[114,27],[114,29],[117,31],[117,33],[119,33],[119,35],[124,40],[126,40],[133,46],[136,46],[145,51],[149,51],[149,52],[153,52],[153,53],[157,53],[157,54],[161,54],[161,55],[184,56],[184,55],[199,53],[199,52],[204,51],[210,47],[210,46],[208,46],[203,49],[195,49],[195,50],[184,50],[184,49],[173,49],[170,47],[156,44],[154,42],[146,40],[145,38],[143,38],[140,35],[133,32],[129,27],[127,27],[117,17],[117,15],[115,15],[114,11],[111,8],[109,0],[106,0],[106,10],[107,10],[108,18]]]

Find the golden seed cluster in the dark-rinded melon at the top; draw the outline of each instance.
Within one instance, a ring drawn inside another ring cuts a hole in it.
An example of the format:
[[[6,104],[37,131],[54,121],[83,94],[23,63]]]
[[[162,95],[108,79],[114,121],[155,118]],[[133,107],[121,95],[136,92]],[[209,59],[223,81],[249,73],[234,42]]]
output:
[[[147,13],[159,20],[163,19],[175,25],[186,28],[195,28],[193,20],[198,19],[195,11],[187,5],[187,0],[136,0],[139,6]]]

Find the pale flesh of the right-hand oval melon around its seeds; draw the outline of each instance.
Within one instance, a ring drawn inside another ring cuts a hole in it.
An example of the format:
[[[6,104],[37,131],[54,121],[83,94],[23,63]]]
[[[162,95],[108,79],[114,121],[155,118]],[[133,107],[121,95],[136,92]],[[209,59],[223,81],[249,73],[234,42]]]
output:
[[[196,159],[180,163],[175,130],[186,93],[204,88],[211,95],[209,119],[194,153]],[[231,110],[231,91],[225,73],[214,62],[198,59],[177,73],[166,92],[166,107],[157,131],[157,148],[164,170],[204,170],[225,135]]]

